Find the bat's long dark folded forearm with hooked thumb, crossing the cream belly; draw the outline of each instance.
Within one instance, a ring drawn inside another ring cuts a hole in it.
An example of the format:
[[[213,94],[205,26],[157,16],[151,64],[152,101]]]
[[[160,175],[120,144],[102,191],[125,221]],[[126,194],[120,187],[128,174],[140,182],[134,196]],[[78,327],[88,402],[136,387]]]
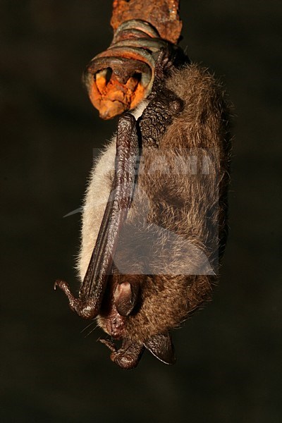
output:
[[[69,305],[80,317],[93,319],[99,314],[107,280],[111,273],[118,234],[130,208],[135,182],[135,166],[139,151],[136,121],[125,114],[118,121],[116,136],[115,176],[109,201],[102,219],[78,298],[71,293],[68,283],[56,281],[68,297]]]

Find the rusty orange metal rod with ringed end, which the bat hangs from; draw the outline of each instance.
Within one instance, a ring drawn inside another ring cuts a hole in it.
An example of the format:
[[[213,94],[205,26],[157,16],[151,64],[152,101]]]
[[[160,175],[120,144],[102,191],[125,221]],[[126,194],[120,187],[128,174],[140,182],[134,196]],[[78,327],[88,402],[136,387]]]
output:
[[[147,97],[159,49],[180,37],[178,6],[178,0],[114,0],[114,39],[92,59],[84,78],[101,118],[134,109]]]

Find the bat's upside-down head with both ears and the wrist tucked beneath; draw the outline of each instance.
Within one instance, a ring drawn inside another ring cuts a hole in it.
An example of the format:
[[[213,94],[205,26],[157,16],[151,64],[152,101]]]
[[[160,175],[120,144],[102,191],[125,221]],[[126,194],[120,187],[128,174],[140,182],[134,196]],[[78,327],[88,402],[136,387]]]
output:
[[[99,326],[111,336],[100,340],[111,350],[111,360],[122,369],[137,366],[144,349],[149,350],[161,362],[173,364],[176,361],[171,336],[168,331],[147,335],[144,333],[144,317],[140,278],[142,276],[119,275],[112,278],[107,288],[98,317]],[[143,276],[144,278],[144,276]],[[157,329],[157,328],[155,328]],[[121,341],[117,348],[116,341]]]

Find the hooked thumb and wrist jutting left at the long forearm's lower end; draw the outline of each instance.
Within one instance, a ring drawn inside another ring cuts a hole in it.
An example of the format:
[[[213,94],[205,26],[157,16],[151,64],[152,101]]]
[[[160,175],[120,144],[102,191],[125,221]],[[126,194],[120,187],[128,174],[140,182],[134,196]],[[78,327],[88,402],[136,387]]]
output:
[[[56,281],[54,283],[55,290],[57,286],[63,291],[63,293],[66,294],[69,306],[73,312],[78,314],[78,316],[83,319],[94,319],[94,317],[97,317],[97,307],[94,307],[94,302],[92,300],[81,300],[80,298],[75,298],[71,293],[68,283],[65,281]]]

